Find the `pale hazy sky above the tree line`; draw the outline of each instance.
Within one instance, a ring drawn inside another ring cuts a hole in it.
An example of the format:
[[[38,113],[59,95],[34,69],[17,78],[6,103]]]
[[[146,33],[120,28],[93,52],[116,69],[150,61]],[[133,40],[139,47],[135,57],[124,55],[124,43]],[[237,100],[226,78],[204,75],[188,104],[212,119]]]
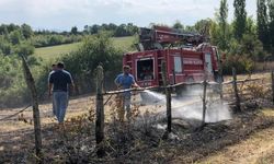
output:
[[[70,31],[102,23],[194,25],[214,19],[219,0],[0,0],[0,24],[31,25],[34,30]],[[233,17],[233,0],[228,0]],[[248,15],[255,19],[256,0],[247,0]]]

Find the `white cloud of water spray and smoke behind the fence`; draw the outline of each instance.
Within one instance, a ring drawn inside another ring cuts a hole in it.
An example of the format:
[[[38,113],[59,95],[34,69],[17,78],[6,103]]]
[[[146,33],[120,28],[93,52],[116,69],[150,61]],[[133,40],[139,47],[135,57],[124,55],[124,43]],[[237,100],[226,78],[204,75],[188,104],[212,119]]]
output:
[[[144,104],[165,104],[165,95],[153,91],[144,91],[142,93]],[[221,120],[231,119],[228,105],[225,102],[220,102],[218,95],[208,92],[206,98],[206,122],[217,122]],[[202,103],[202,91],[192,90],[189,91],[182,97],[172,96],[171,102],[172,118],[173,119],[203,119],[203,103]],[[159,113],[164,113],[165,107],[159,108]]]

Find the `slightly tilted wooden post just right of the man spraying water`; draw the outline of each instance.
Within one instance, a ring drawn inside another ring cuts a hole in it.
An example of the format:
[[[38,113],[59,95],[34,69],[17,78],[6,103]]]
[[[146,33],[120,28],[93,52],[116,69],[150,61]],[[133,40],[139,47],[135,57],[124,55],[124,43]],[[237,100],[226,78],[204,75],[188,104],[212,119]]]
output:
[[[168,77],[167,77],[167,63],[162,62],[162,81],[163,81],[163,86],[165,91],[165,97],[167,97],[167,118],[168,118],[168,128],[167,131],[168,133],[171,132],[171,89],[167,87],[169,84]]]

